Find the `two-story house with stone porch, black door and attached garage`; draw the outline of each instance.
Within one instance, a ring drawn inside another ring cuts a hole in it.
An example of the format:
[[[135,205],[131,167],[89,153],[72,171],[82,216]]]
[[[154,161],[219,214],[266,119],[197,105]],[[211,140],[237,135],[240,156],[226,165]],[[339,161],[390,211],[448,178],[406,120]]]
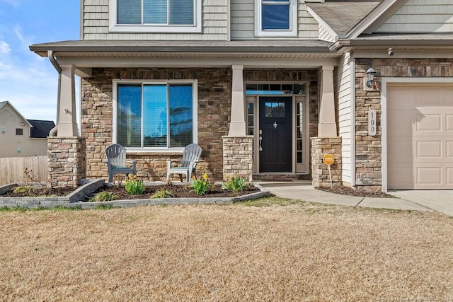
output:
[[[195,142],[216,180],[330,185],[330,153],[336,184],[452,189],[452,14],[441,0],[81,0],[81,40],[30,46],[61,79],[50,149],[76,149],[73,181],[106,178],[112,143],[161,180]]]

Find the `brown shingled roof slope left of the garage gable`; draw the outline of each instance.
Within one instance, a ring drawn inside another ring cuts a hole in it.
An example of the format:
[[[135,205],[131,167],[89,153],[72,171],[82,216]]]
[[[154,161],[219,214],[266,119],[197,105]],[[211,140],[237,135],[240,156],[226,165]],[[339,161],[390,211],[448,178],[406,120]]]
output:
[[[327,1],[325,3],[307,3],[312,14],[316,14],[338,35],[345,37],[346,34],[368,15],[380,0],[343,0]]]

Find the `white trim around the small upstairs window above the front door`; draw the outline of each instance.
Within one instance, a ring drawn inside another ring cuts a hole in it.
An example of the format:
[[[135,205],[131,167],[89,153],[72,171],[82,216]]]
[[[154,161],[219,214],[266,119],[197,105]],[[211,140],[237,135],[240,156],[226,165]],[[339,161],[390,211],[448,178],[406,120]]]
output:
[[[256,37],[297,37],[297,0],[289,0],[289,30],[262,30],[262,0],[255,0]]]

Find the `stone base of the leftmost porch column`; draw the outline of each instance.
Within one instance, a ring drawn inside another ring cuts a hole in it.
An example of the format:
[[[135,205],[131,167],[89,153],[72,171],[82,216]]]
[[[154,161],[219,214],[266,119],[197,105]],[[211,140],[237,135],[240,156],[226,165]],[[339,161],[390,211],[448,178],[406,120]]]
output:
[[[76,187],[86,178],[82,137],[47,137],[47,187]]]

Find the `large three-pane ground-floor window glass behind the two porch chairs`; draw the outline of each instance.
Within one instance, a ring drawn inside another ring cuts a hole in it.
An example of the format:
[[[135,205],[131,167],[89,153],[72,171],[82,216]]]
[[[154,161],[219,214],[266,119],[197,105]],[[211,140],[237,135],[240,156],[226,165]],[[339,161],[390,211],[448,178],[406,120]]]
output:
[[[194,83],[117,83],[116,141],[130,148],[195,142]]]

